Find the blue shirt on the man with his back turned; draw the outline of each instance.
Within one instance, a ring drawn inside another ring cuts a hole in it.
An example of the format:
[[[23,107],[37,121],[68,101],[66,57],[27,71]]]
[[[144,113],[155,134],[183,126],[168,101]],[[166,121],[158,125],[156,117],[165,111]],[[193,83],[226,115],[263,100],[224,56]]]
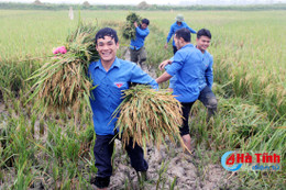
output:
[[[193,44],[182,47],[174,56],[174,60],[166,71],[177,80],[173,94],[179,102],[194,102],[199,97],[199,79],[204,70],[202,54]]]

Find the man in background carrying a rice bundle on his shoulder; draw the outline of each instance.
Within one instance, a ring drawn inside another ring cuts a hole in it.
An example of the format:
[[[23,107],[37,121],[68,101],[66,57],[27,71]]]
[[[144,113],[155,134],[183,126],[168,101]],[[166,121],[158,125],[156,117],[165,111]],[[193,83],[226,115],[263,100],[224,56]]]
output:
[[[144,47],[144,41],[150,33],[147,27],[148,23],[150,21],[147,19],[143,19],[140,25],[138,25],[138,23],[134,22],[134,26],[136,30],[136,37],[132,38],[130,43],[131,62],[139,63],[141,67],[142,67],[142,63],[147,59],[147,54]]]

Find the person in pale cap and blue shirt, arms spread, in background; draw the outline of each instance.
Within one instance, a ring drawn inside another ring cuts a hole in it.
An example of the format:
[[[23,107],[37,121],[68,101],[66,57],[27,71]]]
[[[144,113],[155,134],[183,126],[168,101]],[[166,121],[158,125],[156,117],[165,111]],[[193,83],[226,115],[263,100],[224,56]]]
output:
[[[191,27],[188,26],[188,24],[186,22],[184,22],[184,16],[182,14],[178,14],[176,18],[176,22],[174,24],[170,25],[169,32],[168,32],[168,36],[167,36],[167,42],[165,44],[165,48],[168,47],[168,42],[170,40],[170,37],[175,34],[175,32],[179,29],[188,29],[190,31],[190,33],[196,34],[196,31]],[[177,52],[177,47],[175,45],[175,41],[173,38],[173,53],[175,55],[175,53]]]

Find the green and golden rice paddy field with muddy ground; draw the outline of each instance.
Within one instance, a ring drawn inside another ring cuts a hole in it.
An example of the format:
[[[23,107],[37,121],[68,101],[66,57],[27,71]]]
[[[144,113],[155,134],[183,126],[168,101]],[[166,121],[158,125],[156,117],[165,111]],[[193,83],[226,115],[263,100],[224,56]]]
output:
[[[79,18],[111,26],[120,35],[118,57],[127,57],[129,41],[121,36],[128,11],[1,10],[0,12],[0,189],[94,189],[97,168],[91,113],[85,102],[78,119],[72,110],[42,116],[26,103],[34,80],[26,80],[53,56],[77,26]],[[286,187],[286,12],[285,11],[138,11],[151,21],[145,41],[145,67],[173,56],[164,49],[175,16],[183,13],[194,30],[212,33],[213,91],[218,114],[206,123],[207,111],[196,102],[190,135],[196,154],[182,157],[166,139],[160,150],[147,147],[150,180],[140,182],[127,153],[116,144],[110,189],[284,189]],[[196,36],[193,35],[195,44]],[[164,83],[162,88],[166,88]],[[68,88],[68,87],[67,87]],[[275,152],[279,171],[237,171],[222,168],[229,150]],[[185,161],[185,163],[184,163]]]

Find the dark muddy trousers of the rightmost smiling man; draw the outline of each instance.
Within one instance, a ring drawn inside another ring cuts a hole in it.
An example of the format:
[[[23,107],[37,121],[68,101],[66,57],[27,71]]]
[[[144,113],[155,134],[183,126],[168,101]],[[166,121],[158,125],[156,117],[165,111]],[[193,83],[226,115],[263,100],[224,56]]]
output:
[[[207,122],[216,114],[218,100],[211,89],[206,86],[199,93],[198,100],[208,109]]]

